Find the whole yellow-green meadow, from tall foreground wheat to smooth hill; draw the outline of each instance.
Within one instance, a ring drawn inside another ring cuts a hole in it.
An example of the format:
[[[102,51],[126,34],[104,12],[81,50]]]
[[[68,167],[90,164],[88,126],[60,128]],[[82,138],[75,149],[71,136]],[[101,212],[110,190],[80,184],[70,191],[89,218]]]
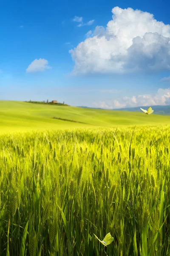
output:
[[[170,116],[0,108],[0,255],[170,255]]]

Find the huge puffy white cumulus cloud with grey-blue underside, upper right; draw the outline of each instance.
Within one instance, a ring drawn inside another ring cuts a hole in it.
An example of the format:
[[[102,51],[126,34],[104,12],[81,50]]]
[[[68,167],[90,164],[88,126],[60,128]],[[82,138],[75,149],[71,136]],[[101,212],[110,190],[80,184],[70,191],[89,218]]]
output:
[[[73,73],[129,73],[170,70],[170,25],[132,8],[112,9],[112,20],[96,26],[71,49]]]

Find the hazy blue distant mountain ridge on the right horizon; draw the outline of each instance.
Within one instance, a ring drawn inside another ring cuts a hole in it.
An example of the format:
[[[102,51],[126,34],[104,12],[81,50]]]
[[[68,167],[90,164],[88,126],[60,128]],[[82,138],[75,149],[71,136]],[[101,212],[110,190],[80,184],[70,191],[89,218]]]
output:
[[[135,107],[135,108],[116,108],[113,110],[122,110],[122,111],[133,111],[133,112],[142,112],[140,108],[144,108],[147,110],[150,106],[141,106],[141,107]],[[151,106],[154,110],[153,113],[157,115],[170,115],[170,105],[166,106],[161,106],[161,105],[156,105],[156,106]]]

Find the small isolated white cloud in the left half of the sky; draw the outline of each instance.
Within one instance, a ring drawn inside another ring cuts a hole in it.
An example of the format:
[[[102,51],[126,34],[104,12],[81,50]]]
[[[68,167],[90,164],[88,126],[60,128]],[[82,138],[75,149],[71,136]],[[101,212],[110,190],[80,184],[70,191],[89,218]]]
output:
[[[26,73],[36,73],[36,72],[43,72],[46,69],[50,69],[51,67],[48,66],[48,61],[45,59],[40,58],[35,59],[31,62],[31,64],[27,67]]]

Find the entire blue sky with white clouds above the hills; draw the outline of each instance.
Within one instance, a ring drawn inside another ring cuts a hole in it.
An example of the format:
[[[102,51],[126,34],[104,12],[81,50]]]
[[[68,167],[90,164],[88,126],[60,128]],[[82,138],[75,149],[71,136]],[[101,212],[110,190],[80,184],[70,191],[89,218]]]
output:
[[[169,105],[169,7],[167,0],[1,1],[0,100]]]

